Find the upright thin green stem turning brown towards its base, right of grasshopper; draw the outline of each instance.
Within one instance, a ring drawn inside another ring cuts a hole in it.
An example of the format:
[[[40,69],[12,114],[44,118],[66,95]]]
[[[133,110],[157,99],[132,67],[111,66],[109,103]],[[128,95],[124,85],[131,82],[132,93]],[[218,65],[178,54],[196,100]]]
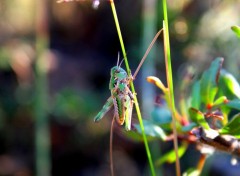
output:
[[[174,101],[174,90],[173,90],[173,79],[172,79],[172,66],[171,66],[171,52],[170,52],[170,41],[169,41],[169,32],[168,32],[168,16],[167,16],[167,0],[163,0],[163,29],[164,29],[164,53],[165,53],[165,64],[167,72],[167,84],[169,88],[169,100],[172,110],[172,126],[174,134],[174,150],[176,155],[176,175],[181,175],[180,162],[178,157],[178,140],[177,140],[177,129],[176,129],[176,108]]]

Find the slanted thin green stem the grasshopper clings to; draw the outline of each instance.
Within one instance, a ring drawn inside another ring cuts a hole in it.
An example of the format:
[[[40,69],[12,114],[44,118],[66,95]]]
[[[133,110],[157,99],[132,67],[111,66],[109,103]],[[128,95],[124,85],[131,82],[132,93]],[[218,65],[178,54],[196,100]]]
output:
[[[123,53],[123,57],[124,57],[125,65],[126,65],[126,70],[127,70],[128,75],[131,76],[131,71],[130,71],[129,64],[128,64],[127,54],[126,54],[126,51],[125,51],[125,47],[124,47],[124,43],[123,43],[123,39],[122,39],[122,34],[121,34],[119,22],[118,22],[118,17],[117,17],[117,13],[116,13],[116,8],[115,8],[113,0],[110,0],[110,5],[111,5],[111,8],[112,8],[114,21],[115,21],[115,25],[116,25],[116,28],[117,28],[117,33],[118,33],[118,36],[119,36],[120,45],[121,45],[121,48],[122,48],[122,53]],[[135,104],[139,124],[140,124],[141,130],[142,130],[143,142],[144,142],[144,145],[145,145],[145,149],[146,149],[146,153],[147,153],[147,157],[148,157],[148,161],[149,161],[149,165],[150,165],[150,170],[151,170],[152,176],[155,176],[156,174],[155,174],[155,170],[154,170],[154,166],[153,166],[153,161],[152,161],[150,149],[149,149],[149,146],[148,146],[147,137],[146,137],[146,134],[145,134],[145,131],[144,131],[142,115],[141,115],[138,100],[137,100],[137,97],[136,97],[136,91],[135,91],[135,88],[134,88],[134,85],[133,85],[132,81],[130,82],[130,87],[131,87],[132,93],[134,95],[134,104]]]

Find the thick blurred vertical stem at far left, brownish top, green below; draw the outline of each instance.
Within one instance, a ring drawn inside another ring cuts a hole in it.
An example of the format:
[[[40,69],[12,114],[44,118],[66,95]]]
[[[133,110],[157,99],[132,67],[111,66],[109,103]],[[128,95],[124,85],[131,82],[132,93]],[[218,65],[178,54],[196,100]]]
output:
[[[47,0],[36,1],[36,106],[35,106],[35,150],[36,175],[50,176],[50,139],[47,118],[47,76],[46,58],[43,53],[48,48]]]

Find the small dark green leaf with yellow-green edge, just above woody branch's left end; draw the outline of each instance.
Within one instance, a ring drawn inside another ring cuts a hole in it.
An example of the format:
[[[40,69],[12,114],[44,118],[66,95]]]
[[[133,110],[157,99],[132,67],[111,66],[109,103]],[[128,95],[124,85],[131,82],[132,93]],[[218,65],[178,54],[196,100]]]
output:
[[[204,129],[210,129],[207,121],[205,120],[204,114],[201,111],[199,111],[195,108],[190,108],[189,115],[193,122],[199,124]]]

